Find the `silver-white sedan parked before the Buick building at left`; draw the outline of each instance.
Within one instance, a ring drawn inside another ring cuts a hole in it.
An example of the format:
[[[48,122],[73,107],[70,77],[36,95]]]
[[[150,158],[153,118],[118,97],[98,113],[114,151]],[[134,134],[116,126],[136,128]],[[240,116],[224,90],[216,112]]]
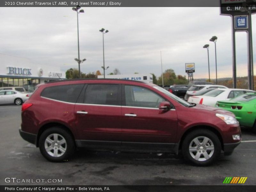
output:
[[[23,102],[28,100],[28,98],[28,93],[13,90],[0,91],[0,104],[14,103],[16,105],[21,105]]]

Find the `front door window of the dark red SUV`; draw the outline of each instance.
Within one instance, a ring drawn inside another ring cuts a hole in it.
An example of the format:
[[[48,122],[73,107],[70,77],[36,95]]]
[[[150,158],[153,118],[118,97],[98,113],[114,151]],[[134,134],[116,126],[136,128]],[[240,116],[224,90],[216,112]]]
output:
[[[125,104],[132,107],[158,108],[165,99],[143,87],[125,85]]]

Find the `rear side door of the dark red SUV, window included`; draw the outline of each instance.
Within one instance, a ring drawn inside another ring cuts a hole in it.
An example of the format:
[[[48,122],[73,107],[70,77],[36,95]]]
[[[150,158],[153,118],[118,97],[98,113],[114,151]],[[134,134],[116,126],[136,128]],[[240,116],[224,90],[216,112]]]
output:
[[[121,85],[87,84],[75,104],[78,139],[86,143],[121,145]],[[101,141],[101,142],[99,142]],[[117,143],[114,143],[117,144]]]

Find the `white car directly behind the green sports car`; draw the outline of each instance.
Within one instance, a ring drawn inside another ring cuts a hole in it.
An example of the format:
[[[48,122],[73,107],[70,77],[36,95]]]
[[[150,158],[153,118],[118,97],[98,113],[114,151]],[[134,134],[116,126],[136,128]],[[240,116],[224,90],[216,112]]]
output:
[[[200,96],[191,96],[188,98],[189,103],[204,104],[215,107],[217,101],[230,100],[234,97],[245,93],[255,93],[247,89],[214,89]]]

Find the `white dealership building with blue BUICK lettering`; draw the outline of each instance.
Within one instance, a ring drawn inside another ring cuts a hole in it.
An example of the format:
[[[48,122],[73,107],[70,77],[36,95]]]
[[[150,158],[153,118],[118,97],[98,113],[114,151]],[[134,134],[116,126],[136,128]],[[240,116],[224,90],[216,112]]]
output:
[[[32,63],[29,59],[0,53],[0,87],[24,87],[33,92],[37,84],[65,78],[60,68]]]

